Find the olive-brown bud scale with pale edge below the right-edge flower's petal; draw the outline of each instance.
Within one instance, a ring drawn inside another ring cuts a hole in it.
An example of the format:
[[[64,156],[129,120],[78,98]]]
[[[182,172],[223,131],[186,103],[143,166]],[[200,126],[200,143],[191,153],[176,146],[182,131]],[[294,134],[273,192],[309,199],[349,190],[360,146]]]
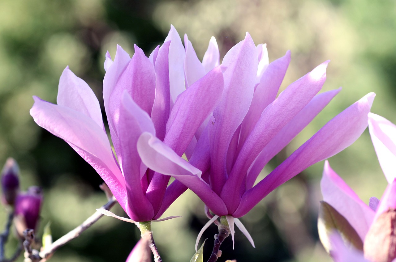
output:
[[[363,251],[363,242],[356,230],[349,224],[348,220],[338,213],[325,201],[320,201],[318,217],[318,233],[320,241],[327,253],[330,254],[330,235],[337,231],[346,245],[353,245],[356,249]]]

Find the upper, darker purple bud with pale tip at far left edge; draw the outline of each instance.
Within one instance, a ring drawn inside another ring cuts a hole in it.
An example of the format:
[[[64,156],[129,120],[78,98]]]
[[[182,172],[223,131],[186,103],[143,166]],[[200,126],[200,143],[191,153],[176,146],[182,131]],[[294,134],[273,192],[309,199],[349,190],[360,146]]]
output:
[[[2,202],[13,205],[19,191],[19,167],[15,159],[8,158],[1,173]]]

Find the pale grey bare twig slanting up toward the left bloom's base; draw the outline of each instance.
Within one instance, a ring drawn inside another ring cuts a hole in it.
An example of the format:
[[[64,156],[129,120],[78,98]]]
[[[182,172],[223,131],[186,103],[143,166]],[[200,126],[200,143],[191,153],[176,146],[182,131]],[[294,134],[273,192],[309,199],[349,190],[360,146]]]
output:
[[[115,199],[115,197],[111,197],[109,202],[107,202],[105,205],[100,207],[100,209],[109,210],[110,208],[112,208],[116,204],[116,202],[117,202],[117,200]],[[103,216],[102,213],[99,213],[98,211],[96,211],[95,213],[93,213],[92,216],[87,218],[80,226],[74,228],[72,231],[70,231],[69,233],[67,233],[63,237],[61,237],[61,238],[57,239],[55,242],[53,242],[48,248],[46,248],[45,250],[41,251],[39,253],[40,257],[42,259],[48,258],[57,249],[59,249],[59,247],[62,247],[63,245],[65,245],[69,241],[71,241],[71,240],[77,238],[78,236],[80,236],[80,234],[82,232],[87,230],[90,226],[92,226],[102,216]]]

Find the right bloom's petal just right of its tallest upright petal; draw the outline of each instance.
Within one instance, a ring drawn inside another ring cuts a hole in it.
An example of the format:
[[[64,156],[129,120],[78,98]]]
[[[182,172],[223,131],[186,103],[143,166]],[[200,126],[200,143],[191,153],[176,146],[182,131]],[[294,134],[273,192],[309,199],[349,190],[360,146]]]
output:
[[[268,104],[274,101],[289,63],[290,51],[287,51],[286,55],[270,63],[265,72],[263,72],[261,80],[255,88],[249,111],[242,122],[242,132],[240,135],[242,145],[259,120],[263,110]]]

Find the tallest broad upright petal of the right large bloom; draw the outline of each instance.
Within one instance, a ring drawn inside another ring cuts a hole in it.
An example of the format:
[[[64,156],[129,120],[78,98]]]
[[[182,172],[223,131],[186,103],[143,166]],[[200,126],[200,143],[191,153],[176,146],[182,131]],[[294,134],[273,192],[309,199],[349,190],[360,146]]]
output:
[[[220,193],[227,178],[226,156],[228,145],[234,132],[242,123],[253,97],[258,59],[256,47],[250,35],[236,44],[225,55],[224,93],[209,120],[209,140],[211,145],[212,188]]]

